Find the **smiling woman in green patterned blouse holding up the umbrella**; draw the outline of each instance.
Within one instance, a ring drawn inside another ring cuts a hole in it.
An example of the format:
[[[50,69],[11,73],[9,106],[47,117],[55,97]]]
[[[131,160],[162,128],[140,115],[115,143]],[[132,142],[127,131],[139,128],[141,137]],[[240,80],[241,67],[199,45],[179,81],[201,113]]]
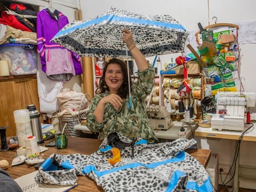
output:
[[[87,127],[99,131],[100,139],[118,132],[130,139],[140,137],[148,143],[155,143],[158,140],[149,125],[145,106],[145,99],[154,86],[155,72],[135,46],[132,33],[127,29],[122,33],[122,40],[139,70],[138,80],[131,87],[132,106],[129,109],[126,105],[129,102],[127,65],[119,59],[110,59],[103,70],[100,94],[92,99]]]

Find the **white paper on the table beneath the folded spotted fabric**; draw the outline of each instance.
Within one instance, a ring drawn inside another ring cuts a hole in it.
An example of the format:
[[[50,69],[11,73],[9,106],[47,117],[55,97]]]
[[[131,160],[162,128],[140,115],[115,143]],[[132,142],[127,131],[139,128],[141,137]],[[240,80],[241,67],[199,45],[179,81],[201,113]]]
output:
[[[61,191],[69,191],[70,189],[77,186],[75,183],[74,186],[60,186],[60,185],[50,185],[45,183],[36,183],[35,175],[38,171],[28,173],[27,175],[23,175],[22,177],[16,178],[15,182],[18,183],[22,191],[24,192],[61,192]]]

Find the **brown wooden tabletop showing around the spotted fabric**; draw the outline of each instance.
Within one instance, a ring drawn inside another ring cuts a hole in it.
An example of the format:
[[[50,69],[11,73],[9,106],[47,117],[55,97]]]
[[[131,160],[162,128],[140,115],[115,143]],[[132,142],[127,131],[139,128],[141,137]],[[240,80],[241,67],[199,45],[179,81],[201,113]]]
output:
[[[48,143],[49,141],[45,141]],[[48,151],[42,152],[43,158],[47,159],[51,154],[72,154],[72,153],[82,153],[90,155],[93,152],[97,151],[101,140],[91,139],[91,138],[80,138],[80,137],[68,137],[68,145],[66,149],[56,149],[48,147]],[[44,143],[44,144],[45,144]],[[43,144],[42,144],[43,146]],[[208,160],[210,159],[211,151],[207,149],[187,149],[187,152],[194,156],[204,167],[207,166]],[[9,162],[9,165],[12,164],[12,159],[14,159],[16,154],[16,149],[9,149],[8,151],[0,151],[0,160],[6,159]],[[35,171],[33,165],[21,164],[14,167],[9,167],[7,170],[12,175],[12,178],[18,178],[27,173]],[[74,191],[103,191],[98,187],[95,182],[88,178],[80,176],[77,180],[79,185],[75,187]]]

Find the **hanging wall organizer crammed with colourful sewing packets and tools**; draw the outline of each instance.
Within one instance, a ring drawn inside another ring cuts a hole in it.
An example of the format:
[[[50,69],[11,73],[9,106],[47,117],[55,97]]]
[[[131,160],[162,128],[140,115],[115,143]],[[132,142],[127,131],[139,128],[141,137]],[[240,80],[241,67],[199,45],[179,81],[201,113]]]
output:
[[[206,78],[205,96],[215,95],[218,91],[237,91],[237,83],[240,83],[237,28],[208,29],[201,31],[197,39],[199,52],[205,50],[201,57],[207,64],[202,69]]]

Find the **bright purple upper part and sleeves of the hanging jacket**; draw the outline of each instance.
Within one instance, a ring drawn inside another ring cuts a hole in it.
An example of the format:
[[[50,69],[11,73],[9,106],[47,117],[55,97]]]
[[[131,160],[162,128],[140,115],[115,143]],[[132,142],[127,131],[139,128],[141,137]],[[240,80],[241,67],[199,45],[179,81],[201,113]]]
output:
[[[37,43],[38,43],[37,49],[38,49],[38,53],[40,54],[41,66],[42,66],[43,72],[46,72],[46,62],[47,62],[45,50],[48,49],[48,51],[51,51],[51,49],[66,49],[61,45],[54,42],[50,42],[50,41],[59,30],[61,30],[65,25],[67,25],[67,23],[69,23],[69,20],[59,10],[55,10],[54,13],[52,13],[51,11],[49,11],[49,9],[43,9],[37,13],[37,19],[36,19],[36,34],[37,34]],[[70,50],[69,52],[70,52],[70,55],[72,56],[75,75],[82,74],[83,70],[82,70],[82,65],[80,62],[79,55]]]

